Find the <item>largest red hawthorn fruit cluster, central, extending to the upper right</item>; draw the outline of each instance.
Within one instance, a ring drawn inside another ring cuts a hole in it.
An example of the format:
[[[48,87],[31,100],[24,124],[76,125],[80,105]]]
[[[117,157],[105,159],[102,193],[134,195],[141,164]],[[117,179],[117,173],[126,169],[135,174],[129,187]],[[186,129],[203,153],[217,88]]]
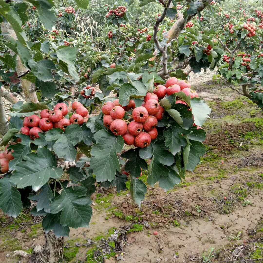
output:
[[[119,104],[116,99],[102,105],[103,124],[116,136],[121,135],[127,145],[145,148],[158,136],[156,125],[163,118],[164,108],[160,106],[159,100],[166,95],[177,92],[184,92],[190,98],[198,97],[198,94],[191,90],[191,85],[184,80],[173,77],[166,81],[165,85],[157,85],[153,93],[147,93],[141,106],[136,107],[133,99],[127,106]],[[176,103],[186,104],[183,100]],[[125,111],[132,110],[127,114],[130,118],[125,120]]]

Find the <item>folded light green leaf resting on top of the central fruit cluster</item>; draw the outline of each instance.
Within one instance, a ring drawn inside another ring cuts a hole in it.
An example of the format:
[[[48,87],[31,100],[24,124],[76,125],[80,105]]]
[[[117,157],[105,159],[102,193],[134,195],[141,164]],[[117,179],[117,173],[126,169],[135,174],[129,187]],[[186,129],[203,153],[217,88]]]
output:
[[[139,84],[140,83],[140,84]],[[147,89],[139,81],[130,83],[123,83],[119,89],[119,103],[122,106],[127,106],[130,98],[142,98],[146,95]]]

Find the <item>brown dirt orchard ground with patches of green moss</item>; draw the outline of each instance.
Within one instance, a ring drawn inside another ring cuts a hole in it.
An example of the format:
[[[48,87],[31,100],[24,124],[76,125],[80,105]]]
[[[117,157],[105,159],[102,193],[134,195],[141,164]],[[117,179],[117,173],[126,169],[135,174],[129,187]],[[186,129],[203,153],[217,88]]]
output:
[[[212,108],[201,164],[167,193],[148,185],[140,209],[128,190],[98,187],[90,227],[70,230],[63,262],[263,262],[262,111],[209,71],[190,77]],[[43,245],[40,220],[0,214],[1,262],[27,262],[13,251]]]

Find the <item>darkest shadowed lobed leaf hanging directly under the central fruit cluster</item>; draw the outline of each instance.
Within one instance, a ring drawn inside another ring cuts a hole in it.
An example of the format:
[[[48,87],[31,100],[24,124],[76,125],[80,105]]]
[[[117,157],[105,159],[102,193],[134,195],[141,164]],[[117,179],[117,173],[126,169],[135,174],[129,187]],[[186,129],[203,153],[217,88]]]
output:
[[[130,149],[122,154],[122,158],[129,159],[125,165],[125,171],[130,172],[131,176],[139,177],[141,174],[141,168],[147,170],[147,163],[139,156],[138,149]]]

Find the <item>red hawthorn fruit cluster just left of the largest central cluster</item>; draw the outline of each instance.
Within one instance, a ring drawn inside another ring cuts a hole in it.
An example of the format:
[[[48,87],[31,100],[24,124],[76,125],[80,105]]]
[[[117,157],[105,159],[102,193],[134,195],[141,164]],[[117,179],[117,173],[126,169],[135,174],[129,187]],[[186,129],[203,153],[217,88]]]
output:
[[[68,107],[67,104],[61,102],[55,105],[54,110],[42,110],[40,117],[36,114],[25,117],[20,133],[26,134],[34,140],[39,138],[39,132],[46,132],[52,128],[60,128],[64,131],[70,124],[82,125],[87,122],[89,118],[88,110],[80,102],[74,101],[72,110],[76,112],[69,119],[65,118],[64,116],[68,114]]]

